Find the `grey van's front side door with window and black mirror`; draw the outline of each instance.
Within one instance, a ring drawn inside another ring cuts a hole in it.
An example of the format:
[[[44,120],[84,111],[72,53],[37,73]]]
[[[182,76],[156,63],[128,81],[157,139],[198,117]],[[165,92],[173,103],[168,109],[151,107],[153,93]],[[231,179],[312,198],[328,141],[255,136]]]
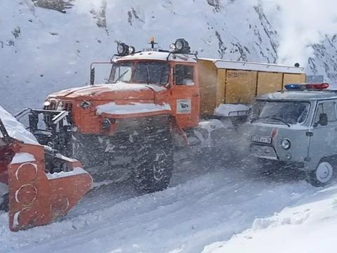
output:
[[[322,157],[337,154],[336,105],[335,100],[317,102],[309,147],[309,157],[313,166],[317,166]]]

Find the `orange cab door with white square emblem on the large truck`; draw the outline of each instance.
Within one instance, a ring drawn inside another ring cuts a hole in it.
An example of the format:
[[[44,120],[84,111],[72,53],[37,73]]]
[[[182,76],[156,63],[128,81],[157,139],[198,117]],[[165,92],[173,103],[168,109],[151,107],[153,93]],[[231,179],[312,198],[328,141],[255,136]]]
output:
[[[173,67],[171,108],[182,128],[194,127],[199,123],[200,94],[197,77],[197,65],[193,63],[176,63]]]

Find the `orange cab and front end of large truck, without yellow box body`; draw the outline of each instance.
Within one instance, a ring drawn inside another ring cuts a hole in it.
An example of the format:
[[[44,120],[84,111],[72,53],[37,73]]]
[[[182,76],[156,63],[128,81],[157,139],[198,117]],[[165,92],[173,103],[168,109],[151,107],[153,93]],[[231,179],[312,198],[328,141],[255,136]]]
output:
[[[117,44],[117,55],[91,65],[91,85],[52,93],[43,110],[29,112],[39,143],[84,162],[96,181],[132,179],[136,190],[164,190],[173,149],[199,124],[197,55],[185,39],[171,51]],[[95,64],[111,65],[95,84]],[[45,128],[41,127],[41,117]],[[42,130],[42,131],[41,131]]]

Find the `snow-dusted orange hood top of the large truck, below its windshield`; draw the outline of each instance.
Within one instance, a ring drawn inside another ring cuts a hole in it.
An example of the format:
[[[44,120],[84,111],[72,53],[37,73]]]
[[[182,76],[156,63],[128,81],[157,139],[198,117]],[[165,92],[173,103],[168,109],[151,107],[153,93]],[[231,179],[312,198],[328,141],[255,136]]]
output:
[[[79,88],[66,89],[52,93],[48,98],[71,100],[153,100],[155,93],[166,91],[163,86],[153,84],[98,84]]]

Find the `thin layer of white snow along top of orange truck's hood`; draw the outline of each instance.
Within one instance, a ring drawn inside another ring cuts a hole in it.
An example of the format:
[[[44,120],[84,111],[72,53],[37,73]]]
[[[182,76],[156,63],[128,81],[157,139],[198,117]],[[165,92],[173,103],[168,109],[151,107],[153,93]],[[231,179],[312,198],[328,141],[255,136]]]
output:
[[[79,97],[79,96],[102,96],[103,93],[126,93],[134,91],[166,91],[164,86],[154,84],[128,84],[118,82],[116,84],[95,84],[92,86],[82,86],[66,89],[52,93],[50,96]]]

